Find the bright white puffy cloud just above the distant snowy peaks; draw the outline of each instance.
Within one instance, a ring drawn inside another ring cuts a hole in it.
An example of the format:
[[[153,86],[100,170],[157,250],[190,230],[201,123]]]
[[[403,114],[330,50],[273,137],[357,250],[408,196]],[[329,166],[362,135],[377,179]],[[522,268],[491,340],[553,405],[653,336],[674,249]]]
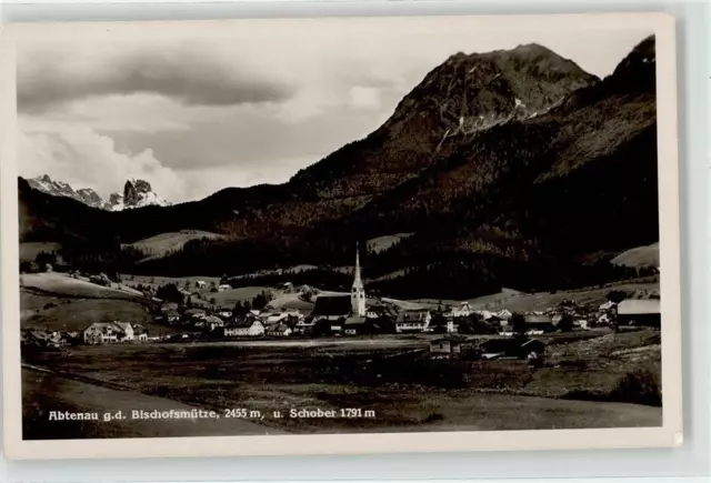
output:
[[[19,132],[20,174],[49,174],[74,189],[92,188],[102,198],[121,192],[130,178],[151,183],[169,201],[186,197],[187,183],[147,149],[137,154],[118,152],[113,140],[90,128],[66,127],[53,132]]]

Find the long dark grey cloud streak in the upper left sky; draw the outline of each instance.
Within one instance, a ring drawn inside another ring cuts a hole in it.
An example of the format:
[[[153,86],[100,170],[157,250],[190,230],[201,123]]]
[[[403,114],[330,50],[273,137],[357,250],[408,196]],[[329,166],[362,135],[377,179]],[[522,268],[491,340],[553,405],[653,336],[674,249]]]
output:
[[[72,52],[57,59],[46,51],[19,63],[19,110],[41,112],[73,100],[134,93],[198,105],[280,102],[294,94],[294,87],[283,80],[259,76],[248,64],[227,64],[206,52],[128,52],[103,59],[70,59],[68,53]]]

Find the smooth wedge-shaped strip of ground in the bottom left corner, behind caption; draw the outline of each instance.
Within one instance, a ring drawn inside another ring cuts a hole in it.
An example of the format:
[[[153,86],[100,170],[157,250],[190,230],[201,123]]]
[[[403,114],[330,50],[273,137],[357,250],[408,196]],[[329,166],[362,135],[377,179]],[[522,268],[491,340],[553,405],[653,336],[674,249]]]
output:
[[[259,423],[232,417],[132,420],[132,411],[189,411],[187,404],[22,369],[26,439],[178,437],[286,434]],[[50,421],[50,412],[98,413],[99,421]],[[104,413],[121,411],[126,420],[104,422]]]

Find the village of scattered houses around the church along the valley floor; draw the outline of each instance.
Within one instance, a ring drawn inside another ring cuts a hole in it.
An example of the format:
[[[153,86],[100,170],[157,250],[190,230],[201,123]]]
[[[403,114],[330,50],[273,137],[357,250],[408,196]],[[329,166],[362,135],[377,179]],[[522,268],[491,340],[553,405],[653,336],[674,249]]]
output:
[[[104,280],[93,279],[96,283]],[[110,283],[110,282],[109,282]],[[273,292],[262,292],[253,300],[238,302],[232,310],[194,306],[191,296],[208,283],[197,280],[193,286],[163,286],[153,298],[153,322],[167,331],[149,333],[140,323],[124,320],[97,321],[82,331],[49,331],[39,328],[22,331],[24,348],[62,348],[121,343],[171,343],[240,340],[329,339],[419,336],[429,342],[433,354],[474,353],[482,359],[518,358],[539,361],[544,358],[545,336],[595,330],[633,330],[660,326],[660,300],[624,298],[610,291],[599,305],[562,300],[543,311],[513,312],[507,308],[474,310],[469,302],[410,304],[402,306],[390,299],[368,298],[359,254],[356,254],[350,293],[320,292],[313,288],[294,288],[283,282],[276,291],[294,293],[301,301],[313,302],[308,310],[271,305]],[[216,284],[214,292],[230,290]],[[184,301],[188,303],[184,303]],[[168,330],[170,329],[170,330]]]

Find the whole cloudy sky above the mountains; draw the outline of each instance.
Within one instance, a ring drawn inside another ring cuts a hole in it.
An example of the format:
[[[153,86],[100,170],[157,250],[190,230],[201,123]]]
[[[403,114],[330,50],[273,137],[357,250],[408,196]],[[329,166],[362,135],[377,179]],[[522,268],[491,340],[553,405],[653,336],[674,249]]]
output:
[[[375,130],[453,53],[538,42],[602,78],[650,33],[311,20],[48,34],[18,48],[18,168],[104,199],[129,178],[171,202],[281,183]]]

